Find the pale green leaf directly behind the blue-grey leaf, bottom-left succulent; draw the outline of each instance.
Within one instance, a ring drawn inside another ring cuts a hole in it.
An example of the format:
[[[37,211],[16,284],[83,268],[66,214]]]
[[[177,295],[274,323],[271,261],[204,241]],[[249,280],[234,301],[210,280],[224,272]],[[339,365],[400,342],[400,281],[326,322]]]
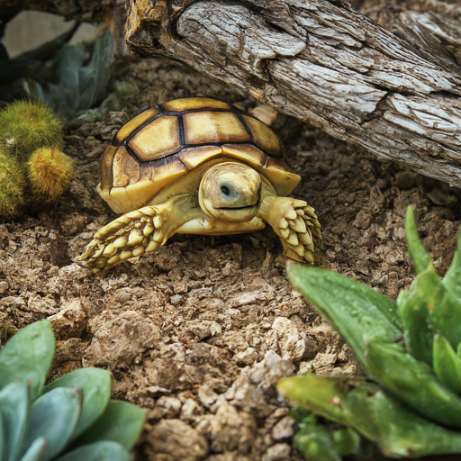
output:
[[[78,368],[46,385],[43,393],[57,387],[78,387],[83,391],[83,404],[77,429],[72,439],[88,429],[103,413],[111,398],[113,375],[100,368]]]

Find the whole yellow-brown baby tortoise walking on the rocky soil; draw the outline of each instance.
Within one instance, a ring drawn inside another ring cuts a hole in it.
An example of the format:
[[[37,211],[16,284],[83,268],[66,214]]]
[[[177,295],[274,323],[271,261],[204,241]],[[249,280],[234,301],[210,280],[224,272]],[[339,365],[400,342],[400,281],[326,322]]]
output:
[[[97,191],[122,216],[96,232],[77,262],[105,274],[176,233],[233,234],[267,223],[286,257],[313,263],[317,216],[285,196],[300,179],[258,119],[204,97],[158,104],[127,122],[104,151]]]

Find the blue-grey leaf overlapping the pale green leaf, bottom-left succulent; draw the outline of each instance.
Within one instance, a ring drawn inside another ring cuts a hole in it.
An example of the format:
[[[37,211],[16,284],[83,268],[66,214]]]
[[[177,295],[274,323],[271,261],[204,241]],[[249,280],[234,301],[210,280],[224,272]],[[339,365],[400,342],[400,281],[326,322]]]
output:
[[[47,459],[59,455],[77,428],[82,392],[73,387],[58,387],[41,395],[31,407],[31,418],[23,442],[23,452],[36,438],[48,440]]]

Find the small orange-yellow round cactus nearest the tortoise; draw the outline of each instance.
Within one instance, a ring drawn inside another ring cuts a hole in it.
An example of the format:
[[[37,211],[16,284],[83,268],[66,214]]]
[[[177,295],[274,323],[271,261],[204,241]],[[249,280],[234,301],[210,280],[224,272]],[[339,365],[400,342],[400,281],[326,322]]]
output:
[[[59,149],[36,149],[27,162],[32,196],[50,203],[63,194],[70,184],[73,161]]]

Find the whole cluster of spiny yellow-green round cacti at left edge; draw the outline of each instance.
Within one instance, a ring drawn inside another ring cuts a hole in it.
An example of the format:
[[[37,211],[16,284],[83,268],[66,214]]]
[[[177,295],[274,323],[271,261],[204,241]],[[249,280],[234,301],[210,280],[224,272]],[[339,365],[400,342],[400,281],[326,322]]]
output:
[[[42,103],[16,101],[0,111],[0,216],[57,202],[68,189],[74,163],[59,150],[62,128]]]

